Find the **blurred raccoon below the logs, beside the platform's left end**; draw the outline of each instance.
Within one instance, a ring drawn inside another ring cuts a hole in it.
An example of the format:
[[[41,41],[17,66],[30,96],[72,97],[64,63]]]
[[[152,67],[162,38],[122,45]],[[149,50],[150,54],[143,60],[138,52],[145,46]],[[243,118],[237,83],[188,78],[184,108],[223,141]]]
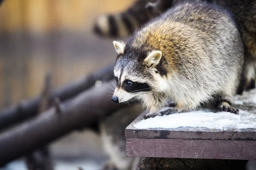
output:
[[[100,122],[103,148],[110,157],[102,170],[135,170],[140,158],[126,157],[125,128],[143,112],[140,104],[122,108]]]

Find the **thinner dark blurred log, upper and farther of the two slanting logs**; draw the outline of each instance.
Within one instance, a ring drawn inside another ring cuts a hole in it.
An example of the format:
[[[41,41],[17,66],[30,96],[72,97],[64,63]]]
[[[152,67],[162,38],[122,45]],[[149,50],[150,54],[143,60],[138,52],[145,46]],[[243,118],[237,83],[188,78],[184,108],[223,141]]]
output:
[[[103,68],[102,70],[76,82],[72,82],[63,88],[52,91],[50,94],[50,100],[52,101],[52,99],[58,97],[61,101],[65,101],[92,87],[97,80],[101,80],[103,82],[109,81],[109,79],[113,78],[113,71],[111,68],[113,68],[113,65],[107,66],[106,68]],[[21,101],[17,105],[13,105],[0,111],[0,130],[35,116],[38,111],[39,103],[40,97],[38,96]]]

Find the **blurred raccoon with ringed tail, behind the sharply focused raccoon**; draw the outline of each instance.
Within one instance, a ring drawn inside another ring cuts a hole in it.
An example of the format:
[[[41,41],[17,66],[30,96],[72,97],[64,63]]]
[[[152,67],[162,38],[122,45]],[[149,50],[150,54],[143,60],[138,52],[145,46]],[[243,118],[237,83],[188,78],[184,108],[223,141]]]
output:
[[[142,0],[138,0],[136,5],[131,6],[129,9],[137,8],[140,9],[140,11],[137,11],[137,13],[148,13],[148,16],[145,18],[143,22],[140,23],[146,23],[151,18],[157,17],[163,12],[165,12],[168,8],[176,6],[178,3],[189,1],[189,2],[203,2],[206,1],[208,3],[213,3],[218,6],[221,6],[223,8],[229,9],[238,24],[239,31],[241,33],[241,36],[244,40],[245,45],[245,52],[246,52],[246,59],[244,62],[244,69],[242,73],[242,78],[240,81],[239,88],[237,89],[237,94],[242,94],[244,90],[250,90],[255,88],[255,80],[256,80],[256,0],[155,0],[155,1],[147,1],[145,2],[143,0],[143,3],[140,3]],[[145,7],[145,8],[144,8]],[[128,15],[130,13],[129,10],[124,11],[122,13],[116,14],[116,16],[121,15]],[[105,16],[105,18],[111,17],[111,15]],[[147,19],[147,20],[146,20]],[[102,32],[100,30],[103,30],[105,26],[110,26],[110,28],[113,28],[113,25],[124,25],[122,23],[125,23],[123,20],[115,20],[113,17],[113,22],[115,24],[112,24],[108,20],[105,20],[105,24],[101,25],[100,27],[97,27],[97,24],[99,25],[99,19],[96,22],[96,27],[99,31],[95,31],[96,34],[99,34],[99,32]],[[134,15],[133,20],[139,20],[137,19],[136,15]],[[138,23],[138,22],[134,22]],[[133,24],[133,23],[131,23]],[[134,32],[137,28],[139,28],[141,25],[129,25],[125,26],[124,28],[115,27],[118,34],[115,34],[114,37],[127,37],[129,34],[128,32],[124,33],[124,30],[127,30],[127,28],[130,29],[129,32]],[[107,29],[107,32],[105,32],[105,35],[110,35],[109,30]],[[113,37],[113,36],[111,36]]]

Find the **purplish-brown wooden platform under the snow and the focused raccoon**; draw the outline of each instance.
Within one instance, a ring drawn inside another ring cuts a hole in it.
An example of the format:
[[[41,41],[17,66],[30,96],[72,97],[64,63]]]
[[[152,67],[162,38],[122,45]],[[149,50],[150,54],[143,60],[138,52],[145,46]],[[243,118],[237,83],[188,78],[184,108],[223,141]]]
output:
[[[255,108],[253,109],[255,112]],[[218,131],[206,128],[126,129],[128,157],[256,160],[256,127]]]

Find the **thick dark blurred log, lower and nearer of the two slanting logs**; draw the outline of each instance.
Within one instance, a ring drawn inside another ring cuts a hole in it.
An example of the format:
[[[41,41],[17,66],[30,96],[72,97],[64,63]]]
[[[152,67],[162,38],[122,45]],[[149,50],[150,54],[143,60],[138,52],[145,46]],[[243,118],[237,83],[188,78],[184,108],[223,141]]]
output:
[[[111,83],[94,86],[61,104],[61,113],[51,108],[39,116],[0,134],[0,166],[41,148],[59,137],[89,126],[119,108],[110,100]]]

